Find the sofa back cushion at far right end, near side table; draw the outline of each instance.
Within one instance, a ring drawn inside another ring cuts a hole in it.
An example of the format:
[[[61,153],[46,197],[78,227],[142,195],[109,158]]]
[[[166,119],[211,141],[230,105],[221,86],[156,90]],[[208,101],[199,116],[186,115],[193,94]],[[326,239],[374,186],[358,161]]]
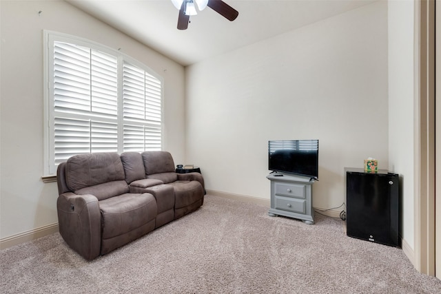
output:
[[[174,161],[172,154],[167,151],[145,151],[141,153],[143,157],[145,174],[161,174],[174,172]]]

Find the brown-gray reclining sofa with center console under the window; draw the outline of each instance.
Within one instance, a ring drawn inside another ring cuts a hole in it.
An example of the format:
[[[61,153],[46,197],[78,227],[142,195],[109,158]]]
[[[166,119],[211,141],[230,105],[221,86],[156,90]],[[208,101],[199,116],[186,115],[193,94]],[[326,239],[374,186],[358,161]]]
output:
[[[86,260],[201,207],[201,174],[176,174],[167,151],[80,154],[59,165],[59,231]]]

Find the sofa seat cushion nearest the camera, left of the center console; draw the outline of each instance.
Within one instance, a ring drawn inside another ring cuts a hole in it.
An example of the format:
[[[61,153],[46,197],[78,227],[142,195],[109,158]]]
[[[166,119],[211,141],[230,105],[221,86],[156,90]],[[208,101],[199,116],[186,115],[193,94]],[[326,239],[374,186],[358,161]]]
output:
[[[99,201],[103,239],[137,229],[156,218],[156,200],[150,193],[125,193]]]

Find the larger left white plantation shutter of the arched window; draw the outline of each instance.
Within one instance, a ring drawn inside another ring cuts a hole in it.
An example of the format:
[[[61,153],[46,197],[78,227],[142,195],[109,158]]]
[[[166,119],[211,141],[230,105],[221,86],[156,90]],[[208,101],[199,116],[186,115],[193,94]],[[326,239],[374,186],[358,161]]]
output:
[[[54,42],[54,163],[118,151],[117,59]]]

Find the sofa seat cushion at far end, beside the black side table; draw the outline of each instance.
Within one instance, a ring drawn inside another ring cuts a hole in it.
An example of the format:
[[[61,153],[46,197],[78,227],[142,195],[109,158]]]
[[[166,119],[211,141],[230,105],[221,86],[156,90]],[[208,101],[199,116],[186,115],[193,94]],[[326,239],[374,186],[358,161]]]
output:
[[[187,207],[203,198],[203,189],[197,180],[176,180],[170,184],[174,188],[174,209]]]

